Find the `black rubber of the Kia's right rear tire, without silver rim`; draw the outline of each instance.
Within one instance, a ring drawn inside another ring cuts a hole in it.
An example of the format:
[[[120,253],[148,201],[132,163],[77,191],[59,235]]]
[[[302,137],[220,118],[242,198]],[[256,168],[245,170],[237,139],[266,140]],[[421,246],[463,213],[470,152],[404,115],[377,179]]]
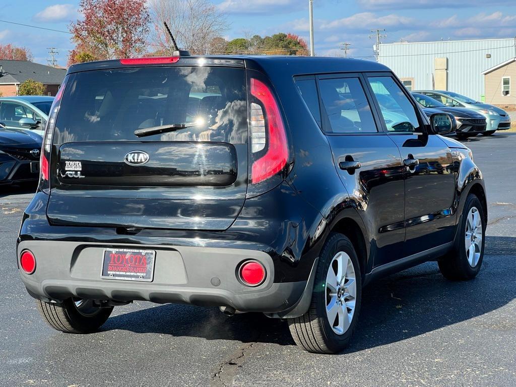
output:
[[[327,288],[326,278],[337,252],[346,253],[356,274],[356,297],[354,312],[349,327],[342,334],[337,334],[330,326],[326,314]],[[351,241],[342,234],[331,233],[321,250],[314,281],[312,303],[307,313],[300,317],[289,318],[288,327],[298,346],[313,353],[336,353],[344,350],[357,325],[362,301],[362,279],[357,254]]]

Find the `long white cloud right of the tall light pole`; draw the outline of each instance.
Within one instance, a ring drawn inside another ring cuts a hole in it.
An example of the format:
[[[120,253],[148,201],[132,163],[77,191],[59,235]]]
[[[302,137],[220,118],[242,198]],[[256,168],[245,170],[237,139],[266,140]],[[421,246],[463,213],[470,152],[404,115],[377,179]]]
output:
[[[414,23],[411,18],[399,16],[396,14],[390,14],[385,16],[377,16],[372,12],[361,12],[351,15],[348,18],[337,19],[332,22],[328,22],[321,25],[321,29],[334,29],[334,28],[347,28],[357,29],[370,28],[370,27],[407,27]]]

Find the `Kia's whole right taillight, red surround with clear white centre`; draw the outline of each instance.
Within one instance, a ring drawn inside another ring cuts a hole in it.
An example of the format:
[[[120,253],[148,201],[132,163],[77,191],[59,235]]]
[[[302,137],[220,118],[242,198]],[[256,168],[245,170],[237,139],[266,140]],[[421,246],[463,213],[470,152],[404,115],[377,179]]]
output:
[[[280,107],[272,90],[258,79],[251,78],[251,95],[259,100],[265,109],[267,125],[262,108],[251,103],[251,150],[260,151],[268,146],[267,152],[255,160],[251,169],[252,184],[260,183],[280,172],[288,160],[288,144]],[[265,131],[268,139],[265,141]]]

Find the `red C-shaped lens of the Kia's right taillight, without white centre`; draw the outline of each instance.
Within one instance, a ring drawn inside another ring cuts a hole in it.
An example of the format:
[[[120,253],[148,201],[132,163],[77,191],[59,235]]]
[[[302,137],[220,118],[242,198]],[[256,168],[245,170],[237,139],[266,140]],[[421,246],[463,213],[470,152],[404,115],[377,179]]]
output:
[[[288,160],[288,144],[280,108],[272,90],[260,80],[251,78],[251,94],[263,104],[268,134],[267,152],[254,161],[251,169],[251,182],[256,184],[285,167]]]

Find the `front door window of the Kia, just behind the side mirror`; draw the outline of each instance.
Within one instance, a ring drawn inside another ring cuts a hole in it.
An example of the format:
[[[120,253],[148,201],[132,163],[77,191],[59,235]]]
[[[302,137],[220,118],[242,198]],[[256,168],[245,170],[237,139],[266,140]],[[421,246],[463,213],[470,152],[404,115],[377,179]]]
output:
[[[389,132],[417,132],[420,127],[416,110],[394,78],[369,77],[369,83],[380,105]]]

